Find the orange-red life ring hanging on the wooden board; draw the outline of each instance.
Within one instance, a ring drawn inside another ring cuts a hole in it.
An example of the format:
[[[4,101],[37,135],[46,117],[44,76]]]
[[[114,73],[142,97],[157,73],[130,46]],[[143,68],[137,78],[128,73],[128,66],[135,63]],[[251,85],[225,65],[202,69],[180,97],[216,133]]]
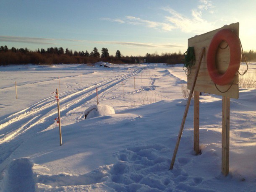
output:
[[[230,47],[230,63],[225,73],[219,73],[216,67],[216,53],[221,42],[227,42]],[[229,29],[222,29],[212,38],[207,52],[207,70],[212,81],[224,86],[234,80],[241,62],[241,46],[239,37]]]

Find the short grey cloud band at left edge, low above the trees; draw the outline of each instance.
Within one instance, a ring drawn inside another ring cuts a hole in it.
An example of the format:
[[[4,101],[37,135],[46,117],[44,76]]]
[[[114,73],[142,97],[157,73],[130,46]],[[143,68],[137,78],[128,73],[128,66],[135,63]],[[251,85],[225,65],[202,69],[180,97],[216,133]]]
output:
[[[18,42],[18,43],[32,43],[32,44],[53,44],[55,39],[34,38],[34,37],[20,37],[20,36],[0,36],[0,42]]]

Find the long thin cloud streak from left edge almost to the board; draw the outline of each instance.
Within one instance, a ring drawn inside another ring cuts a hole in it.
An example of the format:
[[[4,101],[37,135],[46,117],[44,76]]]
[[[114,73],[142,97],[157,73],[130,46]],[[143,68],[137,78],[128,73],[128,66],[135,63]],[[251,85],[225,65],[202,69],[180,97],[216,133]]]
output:
[[[33,37],[18,37],[18,36],[0,36],[2,42],[20,42],[20,43],[33,43],[33,44],[52,44],[60,45],[61,41],[68,42],[80,42],[80,43],[94,43],[94,44],[119,44],[125,46],[134,47],[176,47],[182,48],[183,45],[179,44],[153,44],[153,43],[141,43],[141,42],[115,42],[115,41],[89,41],[89,40],[77,40],[77,39],[47,39],[47,38],[33,38]]]

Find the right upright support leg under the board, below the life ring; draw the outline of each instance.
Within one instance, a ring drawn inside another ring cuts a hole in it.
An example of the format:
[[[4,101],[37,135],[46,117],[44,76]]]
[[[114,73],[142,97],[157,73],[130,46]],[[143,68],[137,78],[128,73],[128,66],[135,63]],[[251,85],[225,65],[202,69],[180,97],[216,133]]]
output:
[[[222,96],[222,174],[229,172],[230,98]]]

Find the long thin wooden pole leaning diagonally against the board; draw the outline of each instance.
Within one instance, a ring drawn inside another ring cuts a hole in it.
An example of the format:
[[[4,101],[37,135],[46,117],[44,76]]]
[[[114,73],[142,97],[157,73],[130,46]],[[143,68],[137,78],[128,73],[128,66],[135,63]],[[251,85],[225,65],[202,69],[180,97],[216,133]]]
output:
[[[174,149],[174,152],[173,152],[172,162],[171,162],[171,165],[170,165],[170,169],[173,168],[174,161],[175,161],[175,158],[176,158],[176,155],[177,155],[177,151],[178,151],[178,148],[179,148],[179,145],[180,145],[181,135],[182,135],[182,132],[183,132],[183,129],[184,129],[184,125],[185,125],[186,117],[187,117],[187,114],[188,114],[188,109],[189,109],[190,101],[191,101],[191,98],[192,98],[192,95],[193,95],[193,91],[194,91],[194,88],[196,86],[196,79],[197,79],[197,76],[198,76],[198,73],[199,73],[199,69],[200,69],[200,66],[201,66],[201,62],[202,62],[202,59],[203,59],[203,56],[204,56],[204,51],[205,51],[205,48],[203,47],[201,49],[201,54],[200,54],[200,57],[199,57],[199,60],[198,60],[198,65],[197,65],[197,68],[196,68],[196,73],[195,73],[195,76],[194,76],[193,85],[192,85],[192,88],[191,88],[191,90],[189,92],[188,102],[187,102],[187,105],[186,105],[186,108],[185,108],[185,112],[183,114],[182,123],[180,125],[180,132],[179,132],[177,143],[176,143],[176,146],[175,146],[175,149]]]

